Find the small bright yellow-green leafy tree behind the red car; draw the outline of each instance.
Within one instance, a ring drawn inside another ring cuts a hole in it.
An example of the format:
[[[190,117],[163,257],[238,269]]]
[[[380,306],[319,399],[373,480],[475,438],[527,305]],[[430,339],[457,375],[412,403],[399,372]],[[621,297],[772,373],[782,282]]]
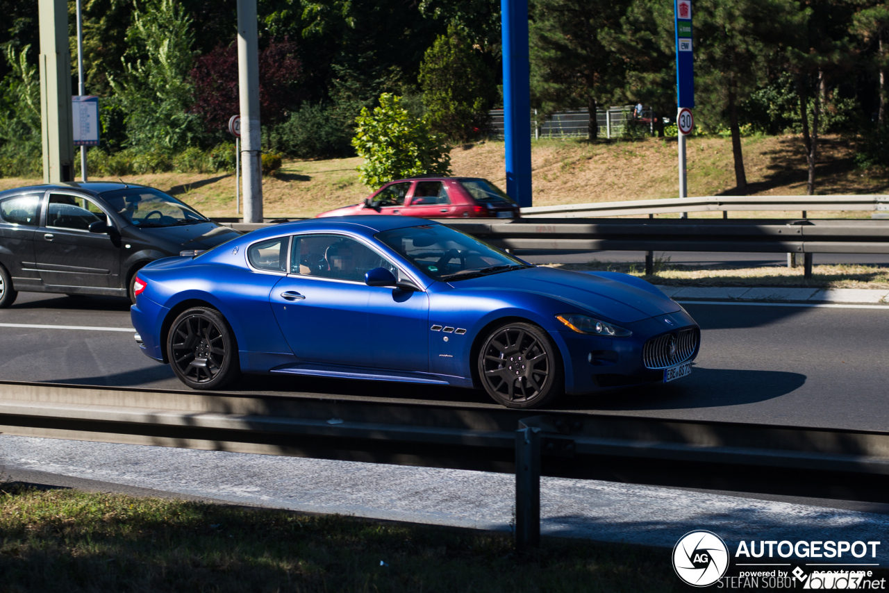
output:
[[[380,107],[362,108],[352,146],[364,163],[361,181],[377,188],[388,181],[432,173],[451,174],[450,148],[420,119],[401,107],[401,98],[385,92]]]

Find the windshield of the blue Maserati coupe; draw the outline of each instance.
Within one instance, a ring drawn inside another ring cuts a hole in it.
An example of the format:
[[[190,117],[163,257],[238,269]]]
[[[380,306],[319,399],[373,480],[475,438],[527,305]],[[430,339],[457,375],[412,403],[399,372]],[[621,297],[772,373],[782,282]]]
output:
[[[530,267],[445,225],[395,228],[375,236],[434,280],[450,282]]]

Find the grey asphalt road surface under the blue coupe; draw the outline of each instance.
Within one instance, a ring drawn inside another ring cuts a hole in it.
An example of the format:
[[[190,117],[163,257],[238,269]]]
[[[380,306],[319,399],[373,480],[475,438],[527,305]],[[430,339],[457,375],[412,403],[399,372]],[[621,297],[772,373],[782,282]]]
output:
[[[168,366],[143,356],[132,332],[19,327],[129,328],[128,301],[20,293],[0,310],[0,380],[182,389]],[[701,324],[691,376],[606,396],[563,397],[589,413],[885,430],[889,309],[686,305]],[[494,405],[482,391],[408,384],[246,376],[233,391],[318,397],[427,399]]]

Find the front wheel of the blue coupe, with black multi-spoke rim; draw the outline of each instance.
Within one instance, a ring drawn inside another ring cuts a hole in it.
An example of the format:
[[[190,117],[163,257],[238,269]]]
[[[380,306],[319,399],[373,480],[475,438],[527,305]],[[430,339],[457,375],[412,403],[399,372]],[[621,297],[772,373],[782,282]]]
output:
[[[482,342],[477,364],[485,391],[508,408],[538,408],[565,391],[556,344],[537,325],[513,322],[494,328]]]

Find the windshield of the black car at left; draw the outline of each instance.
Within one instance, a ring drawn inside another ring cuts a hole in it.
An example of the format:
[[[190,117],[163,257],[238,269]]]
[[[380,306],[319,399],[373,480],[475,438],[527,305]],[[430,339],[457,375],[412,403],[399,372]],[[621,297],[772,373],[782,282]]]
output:
[[[175,197],[167,196],[157,189],[118,189],[101,196],[115,212],[141,228],[172,227],[208,221]]]

